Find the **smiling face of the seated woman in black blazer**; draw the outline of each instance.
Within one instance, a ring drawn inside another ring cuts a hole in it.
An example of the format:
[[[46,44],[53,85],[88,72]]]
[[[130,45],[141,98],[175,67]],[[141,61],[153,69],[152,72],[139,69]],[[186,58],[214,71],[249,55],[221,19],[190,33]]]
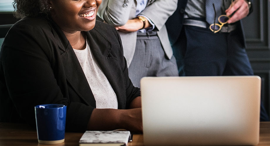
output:
[[[96,23],[102,0],[50,0],[53,20],[67,33],[89,31]]]

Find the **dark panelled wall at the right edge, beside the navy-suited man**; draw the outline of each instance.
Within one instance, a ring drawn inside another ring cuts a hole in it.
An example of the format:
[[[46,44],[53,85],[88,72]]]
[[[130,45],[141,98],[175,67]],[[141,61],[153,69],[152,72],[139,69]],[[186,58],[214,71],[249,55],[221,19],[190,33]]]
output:
[[[270,2],[254,0],[254,11],[243,19],[247,54],[254,74],[261,77],[261,100],[270,114]]]

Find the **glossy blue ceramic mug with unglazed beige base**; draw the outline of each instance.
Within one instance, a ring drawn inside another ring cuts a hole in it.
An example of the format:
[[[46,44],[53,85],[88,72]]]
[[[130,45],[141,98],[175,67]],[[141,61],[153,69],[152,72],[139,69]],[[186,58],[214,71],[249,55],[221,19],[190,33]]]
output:
[[[65,141],[67,106],[46,104],[35,106],[38,142],[55,144]]]

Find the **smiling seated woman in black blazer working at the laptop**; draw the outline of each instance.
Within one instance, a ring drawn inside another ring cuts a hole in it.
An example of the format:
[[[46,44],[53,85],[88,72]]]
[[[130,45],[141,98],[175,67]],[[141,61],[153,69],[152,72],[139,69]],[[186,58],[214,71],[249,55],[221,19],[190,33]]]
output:
[[[142,132],[140,89],[101,0],[15,0],[0,52],[0,121],[35,125],[34,107],[67,105],[67,131]]]

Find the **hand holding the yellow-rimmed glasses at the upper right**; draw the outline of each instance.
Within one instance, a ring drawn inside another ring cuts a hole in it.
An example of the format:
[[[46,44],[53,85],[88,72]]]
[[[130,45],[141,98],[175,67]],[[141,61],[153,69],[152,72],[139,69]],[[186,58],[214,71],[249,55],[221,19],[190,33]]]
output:
[[[228,23],[237,22],[245,18],[249,14],[249,6],[247,0],[235,0],[231,6],[225,11],[227,16],[232,15]]]

